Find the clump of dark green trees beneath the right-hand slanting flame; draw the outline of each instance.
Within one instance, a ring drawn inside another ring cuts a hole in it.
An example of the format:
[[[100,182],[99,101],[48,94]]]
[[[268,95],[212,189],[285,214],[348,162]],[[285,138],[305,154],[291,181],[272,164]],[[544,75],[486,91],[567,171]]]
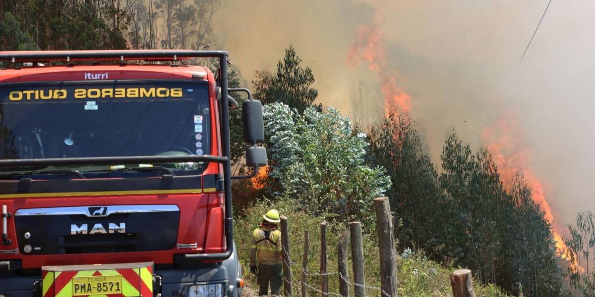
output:
[[[482,282],[496,283],[508,292],[560,296],[560,270],[552,230],[533,192],[521,175],[511,191],[503,186],[499,167],[487,149],[472,153],[454,132],[446,137],[441,155],[444,173],[440,186],[451,208],[452,239],[466,251],[459,261]]]

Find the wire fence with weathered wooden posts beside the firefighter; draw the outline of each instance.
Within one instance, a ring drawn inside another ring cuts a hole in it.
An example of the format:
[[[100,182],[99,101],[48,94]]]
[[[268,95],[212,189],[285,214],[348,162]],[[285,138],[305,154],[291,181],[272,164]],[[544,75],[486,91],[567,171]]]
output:
[[[353,287],[355,296],[369,296],[372,295],[368,291],[375,291],[380,293],[382,297],[397,297],[397,263],[396,263],[396,248],[394,247],[394,229],[393,219],[390,214],[390,207],[386,197],[377,198],[374,200],[374,207],[376,210],[376,228],[378,230],[378,250],[380,259],[380,287],[367,286],[364,283],[364,260],[362,255],[362,236],[361,225],[359,222],[350,223],[350,233],[345,230],[342,232],[342,242],[339,243],[339,249],[343,252],[343,258],[339,261],[339,271],[327,270],[327,250],[326,250],[326,223],[321,224],[321,271],[320,273],[311,273],[308,267],[300,267],[300,264],[295,263],[290,257],[289,237],[287,237],[288,223],[287,217],[281,217],[281,238],[284,239],[284,245],[281,253],[283,260],[284,271],[284,295],[290,297],[293,294],[293,287],[298,286],[302,288],[302,296],[306,296],[308,290],[320,294],[320,296],[347,296],[349,295],[348,287]],[[352,249],[352,264],[353,264],[353,282],[350,281],[349,276],[343,275],[340,271],[347,271],[347,256],[346,246],[347,241],[351,239]],[[305,231],[305,242],[309,242],[308,231]],[[304,263],[308,263],[309,245],[305,244],[303,255]],[[292,267],[299,267],[303,280],[298,279],[292,273]],[[328,277],[337,275],[339,280],[339,293],[328,291]],[[320,277],[320,289],[308,283],[308,277]],[[359,279],[359,281],[358,281]],[[471,270],[456,270],[450,274],[450,284],[452,286],[453,296],[455,297],[475,297],[473,283],[471,278]],[[347,287],[346,287],[347,286]],[[297,288],[297,287],[296,287]]]

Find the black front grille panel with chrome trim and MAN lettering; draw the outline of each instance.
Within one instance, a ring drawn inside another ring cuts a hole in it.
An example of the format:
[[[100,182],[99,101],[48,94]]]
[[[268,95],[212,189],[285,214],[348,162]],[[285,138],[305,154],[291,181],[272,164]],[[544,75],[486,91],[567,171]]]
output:
[[[174,205],[28,208],[15,213],[19,249],[30,255],[173,249],[179,222],[180,210]]]

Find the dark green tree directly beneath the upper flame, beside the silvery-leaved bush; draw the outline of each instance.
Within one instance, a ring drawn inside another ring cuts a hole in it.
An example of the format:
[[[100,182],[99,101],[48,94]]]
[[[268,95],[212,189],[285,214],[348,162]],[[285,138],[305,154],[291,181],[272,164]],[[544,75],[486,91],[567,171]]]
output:
[[[409,116],[389,114],[369,133],[368,162],[383,166],[392,180],[387,191],[390,208],[399,214],[395,235],[401,248],[424,248],[440,258],[444,244],[434,226],[441,225],[438,173],[422,149],[422,138]],[[446,260],[446,259],[444,259]]]

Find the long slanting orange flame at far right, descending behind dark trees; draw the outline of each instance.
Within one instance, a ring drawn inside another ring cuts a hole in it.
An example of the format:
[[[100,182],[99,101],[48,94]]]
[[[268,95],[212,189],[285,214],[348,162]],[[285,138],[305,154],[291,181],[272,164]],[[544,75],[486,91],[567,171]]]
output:
[[[512,121],[511,113],[505,113],[496,124],[486,127],[481,132],[481,137],[487,143],[494,163],[498,167],[500,180],[506,189],[512,187],[514,176],[521,172],[531,188],[533,200],[544,212],[544,218],[552,225],[553,240],[559,257],[570,260],[568,247],[560,236],[559,228],[555,224],[552,208],[546,200],[543,183],[537,178],[530,166],[530,150],[520,143],[521,129]],[[571,263],[572,268],[580,267]]]

